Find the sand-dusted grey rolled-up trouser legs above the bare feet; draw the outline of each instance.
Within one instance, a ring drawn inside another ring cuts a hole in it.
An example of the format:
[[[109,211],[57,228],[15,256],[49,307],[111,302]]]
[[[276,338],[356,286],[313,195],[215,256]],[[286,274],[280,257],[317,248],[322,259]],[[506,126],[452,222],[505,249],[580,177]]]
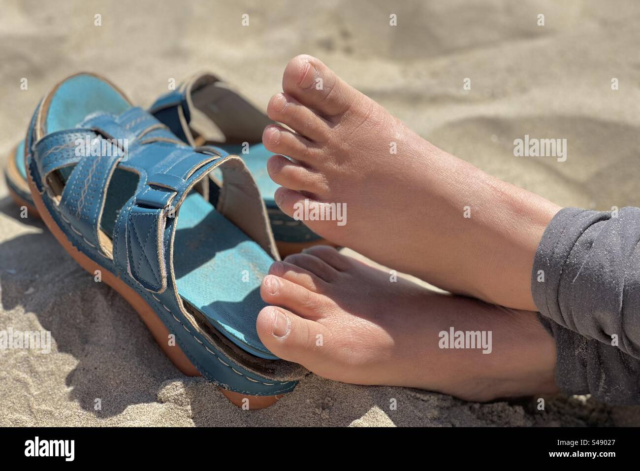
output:
[[[639,208],[564,208],[545,230],[531,293],[565,393],[640,403],[639,241]]]

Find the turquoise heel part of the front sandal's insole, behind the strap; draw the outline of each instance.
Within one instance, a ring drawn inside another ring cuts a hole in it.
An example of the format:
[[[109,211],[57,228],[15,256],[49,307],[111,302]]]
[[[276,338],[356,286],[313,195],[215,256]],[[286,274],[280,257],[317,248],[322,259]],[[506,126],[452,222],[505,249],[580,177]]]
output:
[[[273,258],[195,192],[180,206],[173,270],[182,299],[218,331],[260,358],[276,359],[258,337],[255,320],[267,304],[260,283]]]

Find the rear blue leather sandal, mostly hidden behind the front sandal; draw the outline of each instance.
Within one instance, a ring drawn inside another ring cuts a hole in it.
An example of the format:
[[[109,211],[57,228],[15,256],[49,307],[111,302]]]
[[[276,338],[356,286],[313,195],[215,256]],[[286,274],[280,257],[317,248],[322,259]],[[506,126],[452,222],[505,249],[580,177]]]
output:
[[[216,145],[243,158],[266,204],[280,254],[300,252],[310,245],[332,245],[276,205],[273,195],[279,185],[267,173],[273,153],[262,145],[262,131],[273,121],[227,83],[209,73],[196,74],[159,97],[149,111],[189,145]],[[212,173],[216,183],[211,186],[212,202],[221,178],[220,172]]]

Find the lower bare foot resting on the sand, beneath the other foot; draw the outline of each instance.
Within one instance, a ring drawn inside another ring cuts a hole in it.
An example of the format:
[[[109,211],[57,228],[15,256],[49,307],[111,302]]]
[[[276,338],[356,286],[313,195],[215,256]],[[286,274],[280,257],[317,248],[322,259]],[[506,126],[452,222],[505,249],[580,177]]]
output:
[[[470,401],[556,392],[556,347],[534,313],[392,282],[326,246],[275,262],[260,293],[278,306],[260,311],[260,340],[320,376]],[[484,331],[490,353],[441,349],[451,328]]]

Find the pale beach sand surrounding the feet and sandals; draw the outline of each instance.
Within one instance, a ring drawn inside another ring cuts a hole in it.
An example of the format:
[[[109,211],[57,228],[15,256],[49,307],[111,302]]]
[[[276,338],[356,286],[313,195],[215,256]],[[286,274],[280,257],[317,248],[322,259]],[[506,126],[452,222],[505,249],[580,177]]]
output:
[[[170,79],[208,69],[264,106],[287,60],[308,53],[499,178],[564,206],[640,206],[640,4],[282,4],[4,1],[0,153],[22,137],[38,99],[80,70],[104,74],[148,106]],[[566,138],[567,160],[513,156],[513,140],[525,134]],[[117,293],[95,283],[42,223],[20,219],[3,181],[0,330],[9,327],[51,331],[52,351],[0,350],[0,426],[640,425],[640,407],[588,397],[548,397],[540,411],[536,398],[475,404],[312,374],[276,406],[242,411],[180,374]]]

